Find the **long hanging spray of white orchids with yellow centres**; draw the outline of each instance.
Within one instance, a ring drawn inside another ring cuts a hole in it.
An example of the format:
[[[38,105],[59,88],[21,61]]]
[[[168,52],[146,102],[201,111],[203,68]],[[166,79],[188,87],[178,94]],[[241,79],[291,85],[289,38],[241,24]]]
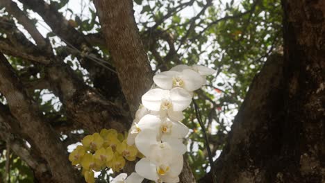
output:
[[[128,132],[128,146],[136,146],[144,155],[135,165],[135,172],[115,177],[113,182],[140,183],[144,178],[154,182],[179,182],[186,146],[183,139],[188,127],[180,121],[192,101],[193,91],[206,84],[206,76],[215,70],[200,65],[178,65],[156,74],[156,85],[142,96],[142,105],[135,114]],[[136,179],[135,179],[136,177]]]

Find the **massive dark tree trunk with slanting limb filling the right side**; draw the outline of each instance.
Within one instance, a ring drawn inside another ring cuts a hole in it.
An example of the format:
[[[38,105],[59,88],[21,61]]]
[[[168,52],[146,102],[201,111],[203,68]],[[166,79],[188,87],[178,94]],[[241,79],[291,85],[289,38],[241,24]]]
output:
[[[219,182],[325,182],[325,2],[283,10],[284,58],[253,80],[215,162]]]

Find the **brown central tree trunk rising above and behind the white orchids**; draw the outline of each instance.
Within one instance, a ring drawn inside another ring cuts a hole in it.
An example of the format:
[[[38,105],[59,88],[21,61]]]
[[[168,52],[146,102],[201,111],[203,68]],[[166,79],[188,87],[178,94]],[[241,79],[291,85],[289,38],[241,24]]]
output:
[[[133,1],[94,1],[122,91],[134,115],[152,85],[153,72],[133,16]]]

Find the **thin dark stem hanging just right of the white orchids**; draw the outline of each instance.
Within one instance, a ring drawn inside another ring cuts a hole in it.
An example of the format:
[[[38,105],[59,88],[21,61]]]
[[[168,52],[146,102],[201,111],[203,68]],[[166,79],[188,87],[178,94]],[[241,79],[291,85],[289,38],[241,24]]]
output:
[[[193,99],[193,103],[194,103],[195,115],[197,116],[197,121],[199,121],[199,124],[201,126],[204,141],[206,143],[206,150],[208,151],[208,157],[209,157],[209,162],[210,162],[210,167],[211,167],[213,183],[217,183],[217,177],[215,176],[215,167],[213,166],[213,155],[212,155],[211,150],[210,150],[210,145],[209,145],[210,143],[209,143],[208,136],[206,134],[206,127],[204,126],[204,124],[202,122],[199,107],[197,106],[197,103],[194,101],[194,99]]]

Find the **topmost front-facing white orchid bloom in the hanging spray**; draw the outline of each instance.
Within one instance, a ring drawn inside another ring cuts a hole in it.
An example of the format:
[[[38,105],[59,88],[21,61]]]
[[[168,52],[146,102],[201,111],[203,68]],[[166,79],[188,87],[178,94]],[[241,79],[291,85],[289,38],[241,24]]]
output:
[[[183,71],[165,71],[153,76],[153,81],[162,89],[181,87],[192,92],[206,84],[206,79],[197,71],[183,69]]]

